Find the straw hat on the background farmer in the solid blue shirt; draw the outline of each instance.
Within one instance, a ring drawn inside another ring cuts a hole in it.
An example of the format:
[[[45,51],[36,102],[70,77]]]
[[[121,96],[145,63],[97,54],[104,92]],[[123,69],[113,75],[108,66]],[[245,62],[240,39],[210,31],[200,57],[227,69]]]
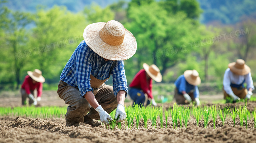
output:
[[[185,80],[191,85],[199,85],[201,83],[199,73],[195,69],[184,71],[184,77]]]

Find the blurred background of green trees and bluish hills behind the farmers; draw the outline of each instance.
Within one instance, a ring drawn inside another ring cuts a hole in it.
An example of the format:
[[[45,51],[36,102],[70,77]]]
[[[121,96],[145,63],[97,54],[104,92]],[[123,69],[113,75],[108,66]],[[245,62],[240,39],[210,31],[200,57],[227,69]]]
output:
[[[35,68],[44,90],[56,90],[84,28],[109,20],[137,40],[136,54],[124,61],[128,84],[142,63],[154,63],[161,88],[196,69],[202,85],[220,91],[227,64],[238,58],[256,80],[255,0],[0,0],[0,90],[19,89]]]

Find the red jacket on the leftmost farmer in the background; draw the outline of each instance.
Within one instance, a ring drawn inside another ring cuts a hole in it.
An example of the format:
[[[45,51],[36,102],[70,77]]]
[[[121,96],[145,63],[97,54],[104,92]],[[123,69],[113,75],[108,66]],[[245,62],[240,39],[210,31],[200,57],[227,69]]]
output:
[[[25,89],[27,94],[30,94],[30,91],[35,90],[35,88],[36,88],[37,89],[37,97],[41,97],[42,91],[43,91],[43,83],[36,82],[35,84],[33,84],[32,78],[29,75],[27,75],[21,85],[21,88]]]

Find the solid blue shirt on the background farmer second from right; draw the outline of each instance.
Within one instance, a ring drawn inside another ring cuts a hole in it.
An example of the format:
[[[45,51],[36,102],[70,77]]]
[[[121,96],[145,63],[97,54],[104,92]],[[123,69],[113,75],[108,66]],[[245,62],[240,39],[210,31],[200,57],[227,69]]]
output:
[[[179,78],[174,82],[176,85],[176,88],[178,89],[178,94],[182,95],[182,91],[186,91],[186,93],[189,93],[191,90],[194,92],[194,98],[199,98],[199,90],[198,86],[189,84],[184,75],[179,76]]]

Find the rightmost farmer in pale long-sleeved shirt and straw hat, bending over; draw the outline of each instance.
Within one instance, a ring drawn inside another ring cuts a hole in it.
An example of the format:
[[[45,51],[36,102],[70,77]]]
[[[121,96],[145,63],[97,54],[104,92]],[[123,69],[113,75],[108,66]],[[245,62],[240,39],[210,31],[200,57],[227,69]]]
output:
[[[233,102],[240,99],[249,100],[254,90],[251,69],[242,59],[229,63],[223,79],[224,99],[231,97]],[[246,83],[246,88],[244,86]]]

